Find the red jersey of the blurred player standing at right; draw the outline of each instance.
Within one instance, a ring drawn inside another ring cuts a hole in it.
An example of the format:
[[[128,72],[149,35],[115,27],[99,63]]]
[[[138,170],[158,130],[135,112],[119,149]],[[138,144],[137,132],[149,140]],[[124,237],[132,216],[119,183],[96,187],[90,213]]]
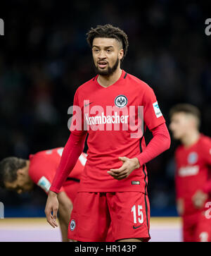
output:
[[[203,190],[211,178],[211,139],[201,134],[191,147],[180,145],[175,160],[177,198],[184,199],[184,214],[193,214],[198,209],[193,206],[191,198],[197,190]]]

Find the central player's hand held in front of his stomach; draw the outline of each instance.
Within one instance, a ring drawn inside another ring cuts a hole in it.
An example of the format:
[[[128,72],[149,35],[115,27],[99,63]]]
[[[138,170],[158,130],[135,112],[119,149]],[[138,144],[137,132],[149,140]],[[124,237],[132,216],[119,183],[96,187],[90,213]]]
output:
[[[108,174],[118,181],[127,178],[134,169],[140,167],[139,160],[136,157],[132,159],[129,159],[128,157],[119,157],[119,160],[122,161],[122,166],[119,169],[110,169],[110,171],[108,171]]]

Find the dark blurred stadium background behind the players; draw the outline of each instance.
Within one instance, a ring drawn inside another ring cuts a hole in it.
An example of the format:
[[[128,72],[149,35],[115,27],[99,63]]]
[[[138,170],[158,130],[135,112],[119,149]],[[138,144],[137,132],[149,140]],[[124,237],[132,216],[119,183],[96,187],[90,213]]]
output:
[[[75,90],[94,76],[86,32],[111,23],[127,32],[122,68],[153,87],[169,124],[170,107],[188,102],[202,112],[211,135],[209,1],[8,0],[0,4],[0,160],[60,147],[68,140],[68,107]],[[146,140],[151,139],[147,132]],[[177,142],[148,166],[152,216],[177,215],[174,160]],[[86,148],[87,150],[87,148]],[[0,189],[5,217],[43,217],[45,193]]]

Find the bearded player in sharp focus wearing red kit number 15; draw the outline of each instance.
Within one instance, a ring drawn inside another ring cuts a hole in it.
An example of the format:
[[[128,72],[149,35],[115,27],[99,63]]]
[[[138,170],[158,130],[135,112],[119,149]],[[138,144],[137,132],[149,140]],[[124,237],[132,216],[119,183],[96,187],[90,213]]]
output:
[[[170,134],[151,87],[120,68],[128,48],[124,31],[98,25],[87,33],[87,42],[97,75],[75,93],[70,138],[50,188],[46,219],[56,226],[56,193],[89,134],[87,163],[70,218],[70,238],[105,241],[111,224],[115,241],[148,241],[145,164],[170,147]],[[153,133],[147,147],[146,126]]]

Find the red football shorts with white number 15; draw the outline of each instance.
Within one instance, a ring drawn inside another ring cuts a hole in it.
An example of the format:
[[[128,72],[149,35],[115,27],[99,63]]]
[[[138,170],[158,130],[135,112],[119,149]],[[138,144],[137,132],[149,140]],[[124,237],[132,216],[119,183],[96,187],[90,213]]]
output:
[[[68,238],[82,242],[115,242],[125,238],[148,241],[151,238],[149,221],[150,207],[144,193],[79,192],[70,218]],[[110,226],[112,231],[109,231]]]

